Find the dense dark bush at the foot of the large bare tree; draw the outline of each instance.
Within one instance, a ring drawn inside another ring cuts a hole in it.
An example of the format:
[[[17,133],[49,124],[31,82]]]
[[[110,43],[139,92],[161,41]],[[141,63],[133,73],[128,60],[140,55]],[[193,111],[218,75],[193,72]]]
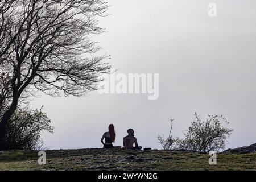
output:
[[[53,133],[51,121],[42,109],[18,107],[7,124],[5,142],[9,150],[40,150],[43,131]]]

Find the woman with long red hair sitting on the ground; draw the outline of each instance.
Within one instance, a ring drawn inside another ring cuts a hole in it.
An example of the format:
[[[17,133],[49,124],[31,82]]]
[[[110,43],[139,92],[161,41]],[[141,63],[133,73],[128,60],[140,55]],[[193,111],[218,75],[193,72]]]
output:
[[[105,139],[105,143],[103,140]],[[105,132],[101,138],[101,143],[103,144],[103,148],[122,148],[121,146],[113,146],[112,142],[115,142],[115,129],[114,125],[109,125],[109,131]]]

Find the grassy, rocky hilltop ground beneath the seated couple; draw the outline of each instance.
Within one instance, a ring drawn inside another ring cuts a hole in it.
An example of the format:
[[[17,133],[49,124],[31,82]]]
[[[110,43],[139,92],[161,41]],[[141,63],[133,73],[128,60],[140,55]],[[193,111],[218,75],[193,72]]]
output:
[[[46,165],[38,164],[38,151],[0,151],[1,170],[256,170],[256,144],[209,155],[194,151],[88,148],[48,150]],[[254,150],[252,149],[254,148]]]

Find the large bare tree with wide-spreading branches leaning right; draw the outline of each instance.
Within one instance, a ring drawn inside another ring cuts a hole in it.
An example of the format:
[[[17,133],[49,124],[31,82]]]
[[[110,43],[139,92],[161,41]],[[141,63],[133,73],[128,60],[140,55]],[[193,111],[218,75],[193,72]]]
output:
[[[18,101],[31,89],[51,96],[84,96],[110,65],[90,35],[100,34],[101,0],[16,0],[0,3],[0,65],[9,71],[11,101],[0,122],[0,150]]]

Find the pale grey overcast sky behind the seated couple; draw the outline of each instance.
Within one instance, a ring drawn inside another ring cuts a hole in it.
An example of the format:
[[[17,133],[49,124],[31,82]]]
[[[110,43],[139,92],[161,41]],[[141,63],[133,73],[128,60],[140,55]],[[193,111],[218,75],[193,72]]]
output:
[[[115,145],[130,127],[143,147],[160,148],[156,137],[183,137],[193,113],[224,114],[233,128],[230,148],[256,143],[256,1],[255,0],[112,0],[95,36],[117,73],[159,73],[159,98],[146,94],[88,97],[42,96],[31,102],[44,111],[55,133],[43,134],[45,146],[102,147],[113,123]],[[209,3],[217,17],[209,17]],[[226,126],[226,125],[225,125]]]

